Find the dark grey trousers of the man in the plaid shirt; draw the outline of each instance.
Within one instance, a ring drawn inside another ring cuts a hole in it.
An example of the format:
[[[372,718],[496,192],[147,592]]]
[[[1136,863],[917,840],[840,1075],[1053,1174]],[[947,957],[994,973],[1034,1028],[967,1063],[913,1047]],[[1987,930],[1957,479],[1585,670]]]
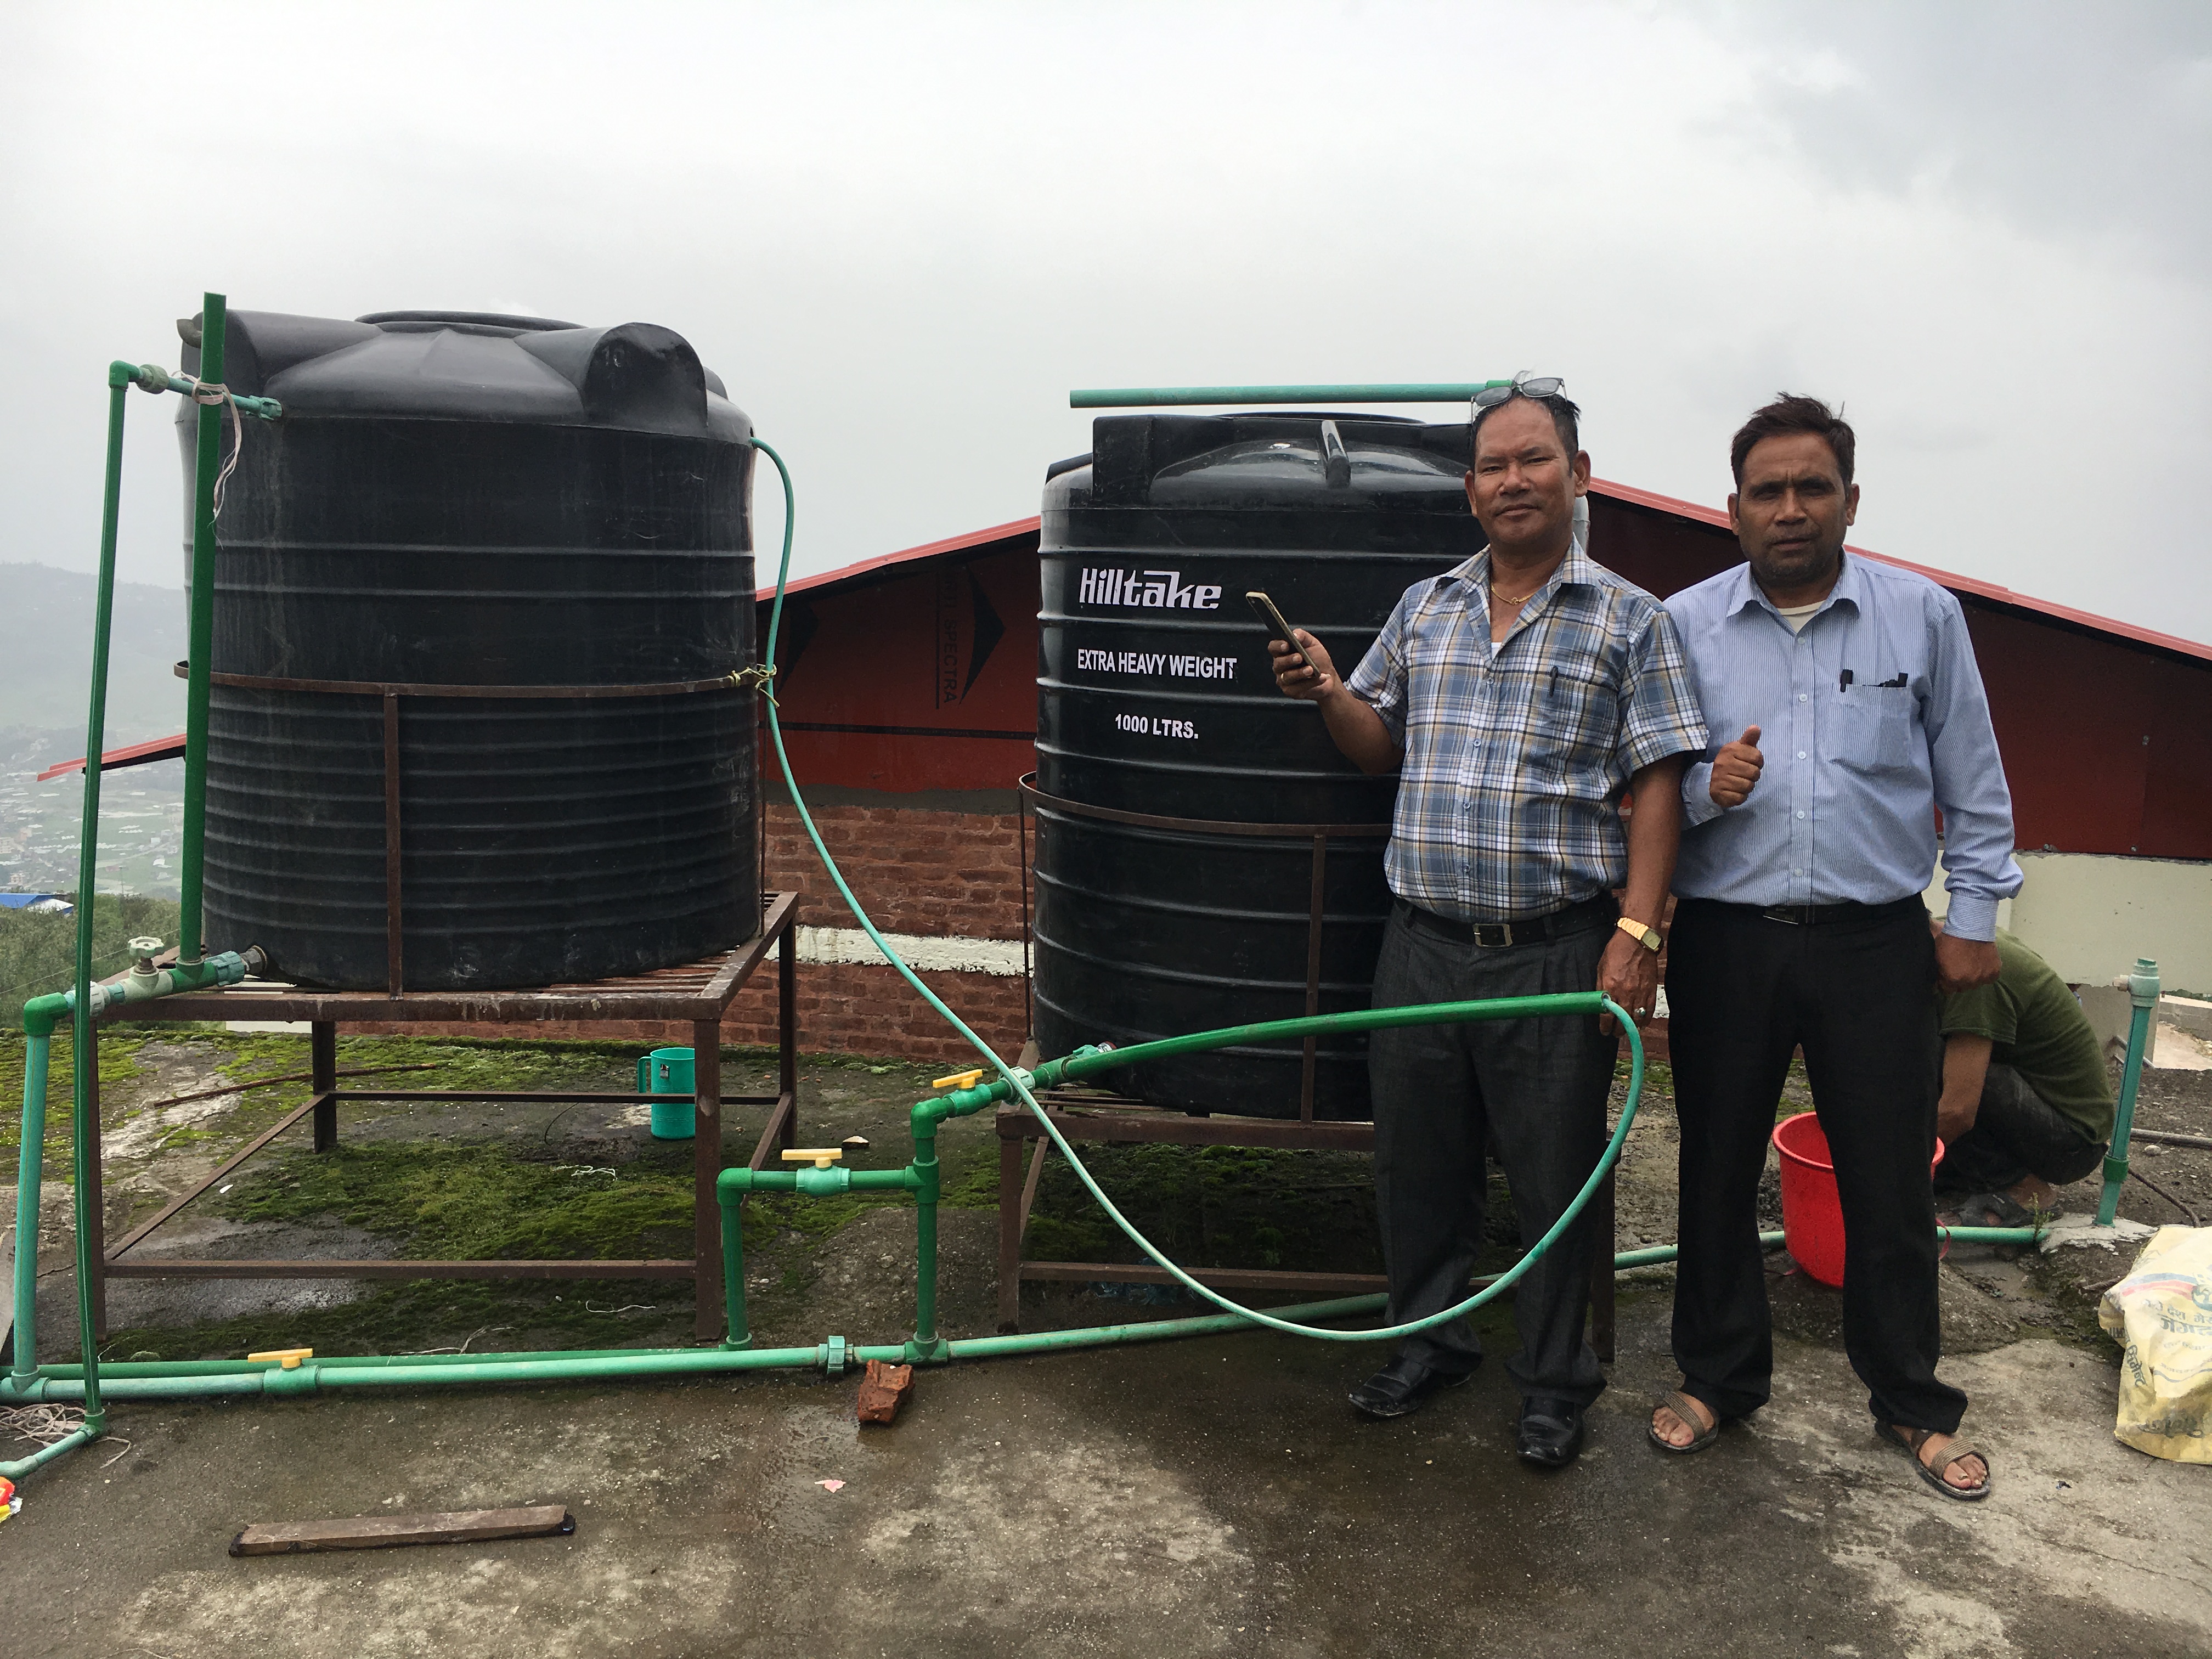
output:
[[[1374,1004],[1590,991],[1613,929],[1593,918],[1564,938],[1480,949],[1391,909]],[[1495,1137],[1522,1239],[1535,1243],[1606,1150],[1606,1095],[1617,1035],[1597,1018],[1500,1020],[1376,1031],[1367,1068],[1376,1110],[1376,1199],[1389,1270],[1389,1323],[1467,1296],[1482,1248],[1484,1144]],[[1517,1283],[1522,1352],[1506,1371],[1524,1396],[1588,1405],[1604,1391],[1584,1338],[1590,1294],[1588,1217]],[[1467,1321],[1420,1332],[1400,1349],[1444,1371],[1473,1369],[1482,1345]]]

